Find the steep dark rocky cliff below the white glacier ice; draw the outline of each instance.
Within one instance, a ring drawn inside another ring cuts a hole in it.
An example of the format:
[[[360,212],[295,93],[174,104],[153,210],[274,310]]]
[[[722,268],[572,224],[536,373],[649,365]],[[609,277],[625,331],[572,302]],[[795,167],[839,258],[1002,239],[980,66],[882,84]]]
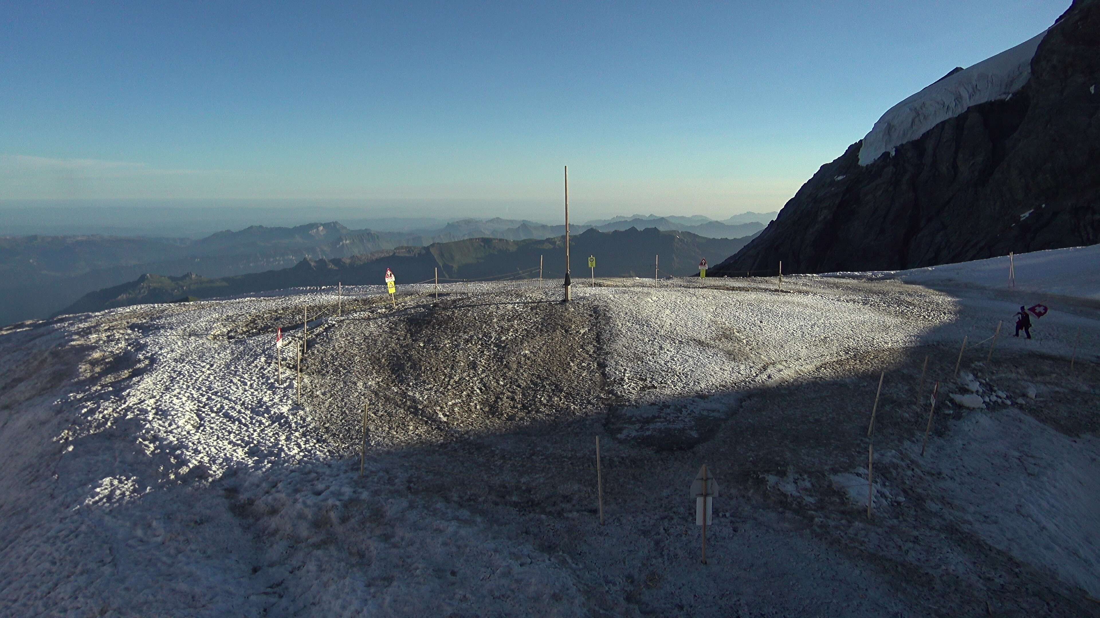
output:
[[[714,274],[779,261],[784,273],[901,269],[1100,242],[1100,0],[1076,0],[1031,67],[1008,100],[892,156],[861,167],[856,142]]]

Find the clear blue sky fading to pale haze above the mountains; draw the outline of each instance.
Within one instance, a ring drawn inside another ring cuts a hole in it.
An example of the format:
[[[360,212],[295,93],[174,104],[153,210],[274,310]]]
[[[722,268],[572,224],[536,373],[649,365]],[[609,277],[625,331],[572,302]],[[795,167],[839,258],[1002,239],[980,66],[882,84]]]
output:
[[[1068,4],[0,0],[0,199],[774,210]]]

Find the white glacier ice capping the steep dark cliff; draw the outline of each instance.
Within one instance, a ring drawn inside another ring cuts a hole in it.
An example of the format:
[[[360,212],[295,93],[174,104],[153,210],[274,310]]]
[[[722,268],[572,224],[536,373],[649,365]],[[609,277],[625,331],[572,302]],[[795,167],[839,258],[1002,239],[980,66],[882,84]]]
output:
[[[1031,60],[1047,31],[996,56],[945,77],[887,110],[864,137],[859,165],[916,140],[944,120],[977,106],[1007,99],[1031,78]]]

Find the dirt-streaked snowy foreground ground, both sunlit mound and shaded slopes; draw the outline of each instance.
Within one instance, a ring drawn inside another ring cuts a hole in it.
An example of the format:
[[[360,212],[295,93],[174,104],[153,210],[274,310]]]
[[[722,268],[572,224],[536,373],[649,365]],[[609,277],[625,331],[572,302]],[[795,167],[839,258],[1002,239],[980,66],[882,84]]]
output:
[[[1036,283],[1096,249],[1018,256],[1014,291],[974,263],[782,291],[597,279],[569,307],[554,282],[406,286],[397,309],[345,288],[340,317],[334,290],[295,289],[8,327],[0,607],[1100,616],[1100,310]],[[1035,298],[1035,339],[1011,336]],[[723,487],[706,565],[703,463]]]

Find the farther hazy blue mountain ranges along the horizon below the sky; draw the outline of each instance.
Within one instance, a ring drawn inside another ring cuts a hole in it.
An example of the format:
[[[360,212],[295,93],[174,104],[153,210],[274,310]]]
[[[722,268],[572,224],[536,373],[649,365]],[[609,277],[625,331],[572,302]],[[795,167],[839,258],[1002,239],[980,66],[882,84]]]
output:
[[[752,217],[763,217],[751,214]],[[737,216],[744,217],[744,216]],[[512,241],[559,236],[564,225],[514,219],[462,219],[416,229],[431,220],[372,220],[391,231],[353,230],[339,222],[294,228],[253,225],[204,239],[100,235],[0,236],[0,324],[45,318],[92,290],[132,282],[145,273],[218,278],[287,268],[302,260],[364,255],[398,246],[425,246],[473,238]],[[403,221],[407,225],[403,227]],[[679,224],[678,222],[683,222]],[[686,224],[692,223],[692,224]],[[617,218],[602,230],[629,227],[684,229],[707,238],[743,238],[762,224],[724,223],[705,217]],[[573,225],[579,234],[592,225]]]

